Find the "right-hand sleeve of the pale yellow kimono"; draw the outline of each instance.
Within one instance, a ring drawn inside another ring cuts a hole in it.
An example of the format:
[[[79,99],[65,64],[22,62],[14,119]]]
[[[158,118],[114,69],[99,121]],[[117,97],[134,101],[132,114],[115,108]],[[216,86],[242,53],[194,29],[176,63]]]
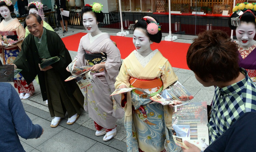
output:
[[[168,60],[165,62],[165,66],[162,69],[163,69],[163,72],[161,75],[161,79],[163,81],[163,89],[165,89],[169,85],[177,81],[178,77],[174,73],[172,66]]]

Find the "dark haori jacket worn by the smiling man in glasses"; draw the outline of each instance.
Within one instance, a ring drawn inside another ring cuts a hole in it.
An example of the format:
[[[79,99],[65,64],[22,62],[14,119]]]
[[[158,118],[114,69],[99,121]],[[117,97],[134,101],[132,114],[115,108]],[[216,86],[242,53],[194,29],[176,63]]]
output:
[[[67,72],[66,70],[66,67],[72,61],[70,54],[57,33],[47,30],[45,28],[44,30],[46,30],[47,47],[51,57],[58,56],[60,58],[58,62],[52,64],[51,66],[55,71],[59,73],[67,94],[72,95],[74,90],[77,88],[76,82],[74,80],[70,80],[67,82],[64,81],[71,75],[70,72]],[[41,59],[38,55],[34,36],[32,34],[29,34],[23,41],[21,45],[21,52],[18,54],[13,64],[15,64],[18,69],[22,69],[20,73],[25,78],[28,84],[34,80],[36,75],[38,75],[43,100],[47,100],[44,71],[40,71],[38,65],[40,63]]]

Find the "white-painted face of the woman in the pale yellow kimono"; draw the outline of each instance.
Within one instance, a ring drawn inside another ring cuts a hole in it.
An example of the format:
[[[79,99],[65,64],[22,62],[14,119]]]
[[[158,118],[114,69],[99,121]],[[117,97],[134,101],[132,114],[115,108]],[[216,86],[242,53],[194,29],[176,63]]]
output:
[[[148,55],[150,52],[152,52],[150,48],[150,44],[152,44],[152,41],[149,40],[149,37],[140,28],[136,28],[133,32],[133,44],[137,52],[141,55]]]

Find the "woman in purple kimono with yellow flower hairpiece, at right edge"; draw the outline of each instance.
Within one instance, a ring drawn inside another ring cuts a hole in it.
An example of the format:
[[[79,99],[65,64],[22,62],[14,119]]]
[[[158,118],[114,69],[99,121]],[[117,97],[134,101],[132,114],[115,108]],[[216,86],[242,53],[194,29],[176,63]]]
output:
[[[256,83],[256,41],[253,39],[256,33],[256,3],[240,3],[233,8],[228,25],[236,30],[234,41],[239,45],[239,67],[248,71],[249,77]]]

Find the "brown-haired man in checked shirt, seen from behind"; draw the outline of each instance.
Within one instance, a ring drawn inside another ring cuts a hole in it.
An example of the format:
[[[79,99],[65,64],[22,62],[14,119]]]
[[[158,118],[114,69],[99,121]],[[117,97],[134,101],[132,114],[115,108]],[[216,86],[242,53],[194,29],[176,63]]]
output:
[[[198,34],[187,52],[187,65],[205,87],[216,86],[209,141],[220,137],[241,115],[256,111],[256,86],[238,66],[238,46],[221,30]]]

